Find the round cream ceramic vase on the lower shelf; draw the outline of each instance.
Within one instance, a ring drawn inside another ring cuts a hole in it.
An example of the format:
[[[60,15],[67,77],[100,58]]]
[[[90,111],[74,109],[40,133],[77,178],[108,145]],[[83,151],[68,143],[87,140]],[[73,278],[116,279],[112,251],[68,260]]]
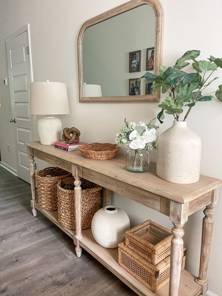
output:
[[[91,228],[93,237],[99,245],[116,248],[125,240],[125,232],[130,229],[130,221],[122,209],[107,206],[93,216]]]

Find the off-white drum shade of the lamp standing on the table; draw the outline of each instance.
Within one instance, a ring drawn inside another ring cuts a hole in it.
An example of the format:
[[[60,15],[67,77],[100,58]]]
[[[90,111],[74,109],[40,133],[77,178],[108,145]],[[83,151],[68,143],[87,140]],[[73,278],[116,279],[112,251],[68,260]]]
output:
[[[62,82],[31,82],[29,114],[69,114],[66,84]]]

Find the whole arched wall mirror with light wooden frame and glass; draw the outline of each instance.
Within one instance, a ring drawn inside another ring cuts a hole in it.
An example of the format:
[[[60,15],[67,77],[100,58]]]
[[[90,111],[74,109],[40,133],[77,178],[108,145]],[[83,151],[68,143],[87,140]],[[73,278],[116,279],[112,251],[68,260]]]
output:
[[[131,0],[86,21],[78,35],[79,102],[158,102],[150,83],[162,58],[158,0]]]

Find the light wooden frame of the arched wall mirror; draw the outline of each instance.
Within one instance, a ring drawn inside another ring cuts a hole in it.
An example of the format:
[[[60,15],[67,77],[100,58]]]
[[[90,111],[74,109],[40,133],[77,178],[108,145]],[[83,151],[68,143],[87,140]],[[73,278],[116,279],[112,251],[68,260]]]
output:
[[[81,27],[77,39],[78,54],[78,91],[80,103],[136,103],[136,102],[159,102],[160,91],[152,95],[123,96],[123,97],[83,97],[83,74],[82,74],[82,37],[85,30],[95,24],[103,22],[118,14],[131,10],[135,7],[149,4],[155,13],[155,62],[153,73],[157,74],[162,62],[162,38],[163,38],[163,8],[158,0],[131,0],[98,16],[87,20]]]

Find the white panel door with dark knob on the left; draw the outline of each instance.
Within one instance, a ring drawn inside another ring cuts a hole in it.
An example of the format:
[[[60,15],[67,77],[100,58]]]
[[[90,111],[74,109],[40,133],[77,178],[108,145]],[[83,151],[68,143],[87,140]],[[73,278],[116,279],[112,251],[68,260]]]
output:
[[[30,57],[29,25],[6,38],[8,75],[12,107],[12,124],[17,154],[17,175],[30,183],[29,158],[26,142],[34,141],[34,118],[28,114],[28,86],[32,82],[32,65]]]

